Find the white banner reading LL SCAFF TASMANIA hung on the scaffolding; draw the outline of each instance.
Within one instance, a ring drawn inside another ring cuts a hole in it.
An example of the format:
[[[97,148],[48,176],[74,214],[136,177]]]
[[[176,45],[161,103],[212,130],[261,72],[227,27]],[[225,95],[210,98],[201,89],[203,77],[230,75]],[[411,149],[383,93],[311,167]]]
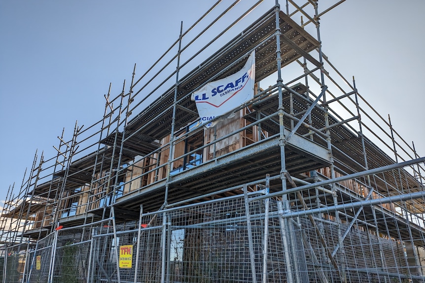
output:
[[[255,53],[249,55],[247,63],[237,73],[224,79],[207,83],[193,93],[202,123],[230,113],[254,97]],[[206,127],[211,126],[211,123]]]

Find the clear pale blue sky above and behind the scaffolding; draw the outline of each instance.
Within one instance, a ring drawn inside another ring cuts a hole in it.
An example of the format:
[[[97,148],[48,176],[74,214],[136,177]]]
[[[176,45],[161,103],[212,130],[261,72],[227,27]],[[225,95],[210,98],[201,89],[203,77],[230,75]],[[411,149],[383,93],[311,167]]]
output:
[[[52,157],[63,127],[70,136],[76,120],[100,120],[109,83],[118,94],[135,63],[140,75],[177,39],[180,21],[192,25],[214,2],[1,0],[0,200],[36,149]],[[323,52],[421,157],[424,11],[424,0],[347,0],[320,21]]]

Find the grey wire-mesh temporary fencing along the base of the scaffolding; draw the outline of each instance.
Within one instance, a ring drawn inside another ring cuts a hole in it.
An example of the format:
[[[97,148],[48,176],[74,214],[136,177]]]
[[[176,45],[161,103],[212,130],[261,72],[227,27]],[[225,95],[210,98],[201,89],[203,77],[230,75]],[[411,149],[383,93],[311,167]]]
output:
[[[139,221],[116,223],[112,208],[107,220],[59,226],[7,248],[3,283],[424,282],[422,214],[387,209],[424,203],[423,190],[323,206],[315,198],[333,194],[324,182],[283,193],[269,181],[158,212],[141,207]]]

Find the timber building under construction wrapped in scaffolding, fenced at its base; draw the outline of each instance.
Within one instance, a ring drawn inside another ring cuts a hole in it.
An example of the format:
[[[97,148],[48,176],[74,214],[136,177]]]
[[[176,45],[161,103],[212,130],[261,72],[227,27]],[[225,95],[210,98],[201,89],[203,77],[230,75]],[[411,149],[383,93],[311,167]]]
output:
[[[219,0],[182,26],[9,188],[3,283],[425,282],[425,157],[324,55],[341,2]],[[251,54],[252,96],[200,119],[193,94]]]

